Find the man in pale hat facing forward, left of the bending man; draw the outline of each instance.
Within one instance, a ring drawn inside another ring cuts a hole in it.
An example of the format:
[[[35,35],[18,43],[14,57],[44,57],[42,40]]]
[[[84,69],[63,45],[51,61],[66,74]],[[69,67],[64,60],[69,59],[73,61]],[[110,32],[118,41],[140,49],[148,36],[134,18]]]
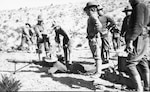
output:
[[[38,53],[44,53],[44,51],[42,51],[43,49],[42,46],[44,45],[46,56],[49,57],[48,53],[49,53],[50,42],[49,42],[48,34],[44,29],[44,22],[41,15],[38,16],[37,21],[38,22],[35,25],[34,30],[37,36]]]

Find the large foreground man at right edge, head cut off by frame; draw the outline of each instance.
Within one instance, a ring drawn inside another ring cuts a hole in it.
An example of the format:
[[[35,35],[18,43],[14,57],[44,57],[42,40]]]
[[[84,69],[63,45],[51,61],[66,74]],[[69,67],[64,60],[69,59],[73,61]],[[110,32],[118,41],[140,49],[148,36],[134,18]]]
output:
[[[149,11],[144,3],[140,0],[129,0],[132,6],[132,13],[129,21],[129,31],[126,33],[126,51],[129,53],[127,56],[127,69],[129,76],[135,83],[135,89],[138,92],[149,91],[149,66],[146,59],[149,38],[146,26],[149,22]],[[141,40],[141,41],[140,41]],[[140,51],[138,50],[138,42],[140,42]],[[142,76],[140,76],[137,65],[140,65]],[[141,83],[143,77],[144,87]]]

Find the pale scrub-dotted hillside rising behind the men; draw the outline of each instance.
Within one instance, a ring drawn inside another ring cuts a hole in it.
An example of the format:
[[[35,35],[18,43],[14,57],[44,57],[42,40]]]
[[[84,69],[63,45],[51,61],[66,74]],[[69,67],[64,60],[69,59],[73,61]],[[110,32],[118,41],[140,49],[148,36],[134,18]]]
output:
[[[104,11],[114,18],[118,26],[121,26],[124,13],[121,11],[127,5],[127,0],[97,0],[104,7]],[[0,12],[0,48],[6,50],[20,44],[19,28],[28,22],[36,24],[39,14],[44,18],[47,30],[51,29],[51,21],[56,20],[66,31],[72,34],[86,34],[87,16],[83,11],[86,2],[68,4],[50,4],[37,8],[20,8]]]

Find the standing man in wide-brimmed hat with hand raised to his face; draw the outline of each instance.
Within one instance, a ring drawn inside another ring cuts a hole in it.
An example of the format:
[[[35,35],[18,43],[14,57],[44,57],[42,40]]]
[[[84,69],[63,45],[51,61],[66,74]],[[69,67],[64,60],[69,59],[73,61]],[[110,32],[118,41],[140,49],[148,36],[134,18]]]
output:
[[[84,11],[88,15],[88,25],[87,25],[87,39],[89,40],[89,46],[91,52],[93,54],[93,58],[96,62],[96,73],[93,77],[100,77],[101,76],[101,39],[100,39],[100,32],[102,29],[102,24],[98,19],[98,12],[97,12],[97,3],[96,2],[88,2]]]

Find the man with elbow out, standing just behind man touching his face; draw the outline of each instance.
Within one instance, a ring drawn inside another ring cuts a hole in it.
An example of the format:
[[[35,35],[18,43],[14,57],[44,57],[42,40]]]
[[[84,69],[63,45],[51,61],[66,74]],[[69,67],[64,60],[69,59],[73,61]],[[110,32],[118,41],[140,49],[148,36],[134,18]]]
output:
[[[101,34],[101,39],[102,39],[102,59],[104,62],[109,61],[109,50],[110,50],[110,43],[109,43],[109,29],[112,27],[116,26],[115,22],[112,18],[109,16],[105,16],[103,12],[103,8],[101,5],[97,7],[98,15],[99,15],[99,20],[102,23],[102,32]]]

